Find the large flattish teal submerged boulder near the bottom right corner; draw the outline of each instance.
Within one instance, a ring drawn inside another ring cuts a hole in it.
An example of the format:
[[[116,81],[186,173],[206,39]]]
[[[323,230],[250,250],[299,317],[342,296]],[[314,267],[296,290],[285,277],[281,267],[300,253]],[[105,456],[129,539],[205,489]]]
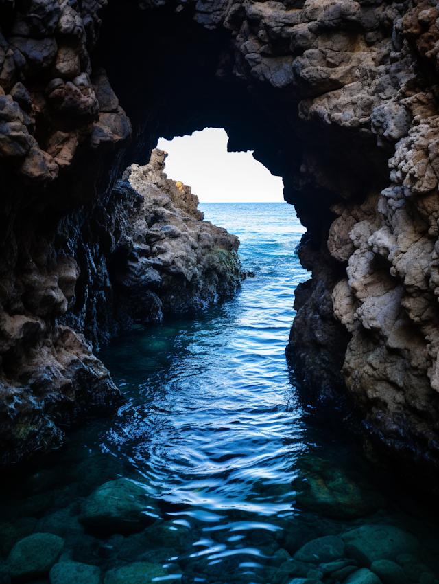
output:
[[[378,560],[394,560],[404,552],[422,550],[416,537],[388,525],[364,525],[341,537],[346,543],[347,554],[366,568]]]

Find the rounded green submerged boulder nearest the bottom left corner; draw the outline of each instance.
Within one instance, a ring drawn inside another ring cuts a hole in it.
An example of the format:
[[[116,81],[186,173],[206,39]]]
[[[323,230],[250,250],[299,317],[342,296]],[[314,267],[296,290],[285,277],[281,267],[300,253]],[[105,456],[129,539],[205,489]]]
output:
[[[64,548],[64,539],[51,533],[35,533],[18,541],[6,561],[12,580],[47,576]]]

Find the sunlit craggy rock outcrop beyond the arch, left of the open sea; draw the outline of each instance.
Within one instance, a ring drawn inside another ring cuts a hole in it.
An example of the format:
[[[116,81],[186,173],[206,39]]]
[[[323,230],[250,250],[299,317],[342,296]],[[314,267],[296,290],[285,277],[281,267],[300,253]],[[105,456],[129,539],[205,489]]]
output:
[[[163,175],[166,156],[153,150],[149,164],[133,164],[123,175],[143,195],[132,237],[119,240],[109,265],[124,328],[163,313],[202,310],[236,292],[244,279],[238,238],[203,221],[191,188]]]

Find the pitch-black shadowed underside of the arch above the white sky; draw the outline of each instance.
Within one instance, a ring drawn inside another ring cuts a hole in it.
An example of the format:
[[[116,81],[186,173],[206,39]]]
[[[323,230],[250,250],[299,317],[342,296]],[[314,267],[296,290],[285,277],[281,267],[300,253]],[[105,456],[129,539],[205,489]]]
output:
[[[230,58],[233,33],[206,30],[194,12],[194,5],[180,11],[172,5],[143,11],[134,4],[108,5],[92,63],[106,70],[132,123],[132,142],[116,162],[109,159],[106,172],[117,178],[129,164],[147,164],[160,137],[224,128],[230,152],[252,150],[282,177],[284,199],[294,204],[318,249],[333,221],[328,209],[340,197],[320,190],[311,199],[295,188],[302,145],[288,126],[298,117],[297,99],[290,89],[239,78]]]

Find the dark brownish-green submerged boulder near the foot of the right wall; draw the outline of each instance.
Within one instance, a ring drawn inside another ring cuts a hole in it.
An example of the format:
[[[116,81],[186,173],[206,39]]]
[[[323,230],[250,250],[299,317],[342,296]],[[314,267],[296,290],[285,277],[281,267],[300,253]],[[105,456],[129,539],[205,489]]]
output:
[[[300,459],[300,475],[293,487],[299,505],[327,517],[351,519],[385,506],[379,493],[361,487],[331,460],[316,456]]]

